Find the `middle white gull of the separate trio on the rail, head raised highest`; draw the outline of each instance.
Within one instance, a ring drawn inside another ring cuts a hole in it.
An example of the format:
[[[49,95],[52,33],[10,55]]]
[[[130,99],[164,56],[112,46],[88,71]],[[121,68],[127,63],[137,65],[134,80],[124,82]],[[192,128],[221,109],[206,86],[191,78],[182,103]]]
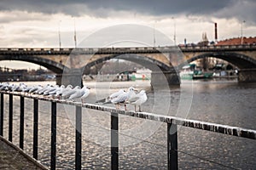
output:
[[[131,96],[136,95],[135,94],[135,88],[130,87],[128,89],[128,92],[125,94],[120,94],[118,97],[111,99],[111,103],[116,105],[116,109],[119,110],[119,104],[125,104],[125,101],[127,99],[130,99]],[[126,104],[125,104],[125,111],[127,111]]]

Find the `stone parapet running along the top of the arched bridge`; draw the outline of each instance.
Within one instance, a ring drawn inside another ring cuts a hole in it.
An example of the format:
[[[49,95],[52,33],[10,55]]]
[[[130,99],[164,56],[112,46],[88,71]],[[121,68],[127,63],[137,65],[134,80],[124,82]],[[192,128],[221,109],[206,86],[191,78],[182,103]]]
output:
[[[162,47],[130,47],[130,48],[0,48],[0,54],[71,54],[74,51],[83,54],[124,54],[124,53],[168,53],[173,50],[193,51],[241,51],[256,50],[256,44],[241,45],[180,45]]]

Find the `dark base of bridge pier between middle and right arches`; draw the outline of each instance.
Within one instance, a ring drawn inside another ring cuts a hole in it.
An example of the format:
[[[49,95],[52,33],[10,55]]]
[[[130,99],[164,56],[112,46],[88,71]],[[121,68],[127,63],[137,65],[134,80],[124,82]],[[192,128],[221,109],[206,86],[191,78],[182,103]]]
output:
[[[179,86],[180,79],[176,71],[152,71],[151,72],[151,87],[164,88],[166,86]]]

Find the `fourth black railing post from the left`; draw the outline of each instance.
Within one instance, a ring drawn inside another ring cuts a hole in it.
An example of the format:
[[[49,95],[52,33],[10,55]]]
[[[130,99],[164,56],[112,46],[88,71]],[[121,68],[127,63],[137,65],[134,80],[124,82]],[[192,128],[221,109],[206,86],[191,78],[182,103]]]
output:
[[[38,159],[38,99],[34,99],[33,158]]]

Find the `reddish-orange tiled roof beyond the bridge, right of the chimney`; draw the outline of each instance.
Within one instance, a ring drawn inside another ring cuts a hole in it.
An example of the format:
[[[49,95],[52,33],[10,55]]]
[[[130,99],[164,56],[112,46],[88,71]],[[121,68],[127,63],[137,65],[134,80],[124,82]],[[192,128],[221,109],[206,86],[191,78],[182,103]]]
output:
[[[243,37],[243,44],[256,44],[256,37]],[[217,45],[240,45],[241,37],[219,41]]]

